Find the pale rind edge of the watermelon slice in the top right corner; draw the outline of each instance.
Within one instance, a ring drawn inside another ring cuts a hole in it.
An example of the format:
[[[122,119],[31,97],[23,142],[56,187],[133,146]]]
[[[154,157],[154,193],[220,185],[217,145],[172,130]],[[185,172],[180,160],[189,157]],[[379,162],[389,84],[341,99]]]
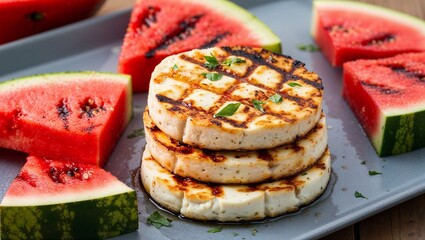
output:
[[[398,22],[406,26],[415,28],[418,32],[421,32],[423,35],[425,35],[425,21],[403,12],[364,2],[341,0],[313,0],[314,10],[311,24],[311,35],[314,38],[317,37],[316,31],[318,25],[318,8],[346,9],[349,12],[360,12],[362,14],[369,14],[371,17],[380,16],[382,18],[388,19],[389,22]]]

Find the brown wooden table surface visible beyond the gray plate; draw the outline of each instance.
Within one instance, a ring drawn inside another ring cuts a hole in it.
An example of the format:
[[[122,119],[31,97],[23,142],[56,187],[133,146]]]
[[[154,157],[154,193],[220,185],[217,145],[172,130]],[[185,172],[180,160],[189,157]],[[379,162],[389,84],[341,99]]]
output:
[[[425,20],[425,0],[360,1],[393,8]],[[129,8],[133,6],[134,2],[135,0],[107,0],[98,15]],[[425,239],[425,194],[323,238],[323,240],[333,239]]]

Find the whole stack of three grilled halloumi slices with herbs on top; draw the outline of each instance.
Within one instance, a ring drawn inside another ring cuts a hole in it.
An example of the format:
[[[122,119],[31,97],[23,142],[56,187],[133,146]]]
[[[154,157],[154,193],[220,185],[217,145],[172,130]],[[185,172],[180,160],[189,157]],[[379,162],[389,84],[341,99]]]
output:
[[[146,191],[185,217],[223,222],[311,203],[331,172],[322,95],[303,63],[259,48],[164,59],[143,116]]]

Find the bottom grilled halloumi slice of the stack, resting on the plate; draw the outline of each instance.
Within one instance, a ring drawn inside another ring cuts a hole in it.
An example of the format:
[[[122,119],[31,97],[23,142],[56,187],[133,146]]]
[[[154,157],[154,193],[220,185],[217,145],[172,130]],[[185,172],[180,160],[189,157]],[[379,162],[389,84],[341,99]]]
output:
[[[284,180],[251,185],[218,185],[170,173],[145,149],[141,178],[163,207],[197,220],[248,221],[294,212],[319,197],[330,178],[328,150],[310,169]]]

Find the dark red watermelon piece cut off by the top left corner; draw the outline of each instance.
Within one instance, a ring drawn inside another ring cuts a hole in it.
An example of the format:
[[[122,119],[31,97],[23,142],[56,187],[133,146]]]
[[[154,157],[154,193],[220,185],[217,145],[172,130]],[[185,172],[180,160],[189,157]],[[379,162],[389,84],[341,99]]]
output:
[[[0,44],[91,16],[104,0],[0,1]]]

